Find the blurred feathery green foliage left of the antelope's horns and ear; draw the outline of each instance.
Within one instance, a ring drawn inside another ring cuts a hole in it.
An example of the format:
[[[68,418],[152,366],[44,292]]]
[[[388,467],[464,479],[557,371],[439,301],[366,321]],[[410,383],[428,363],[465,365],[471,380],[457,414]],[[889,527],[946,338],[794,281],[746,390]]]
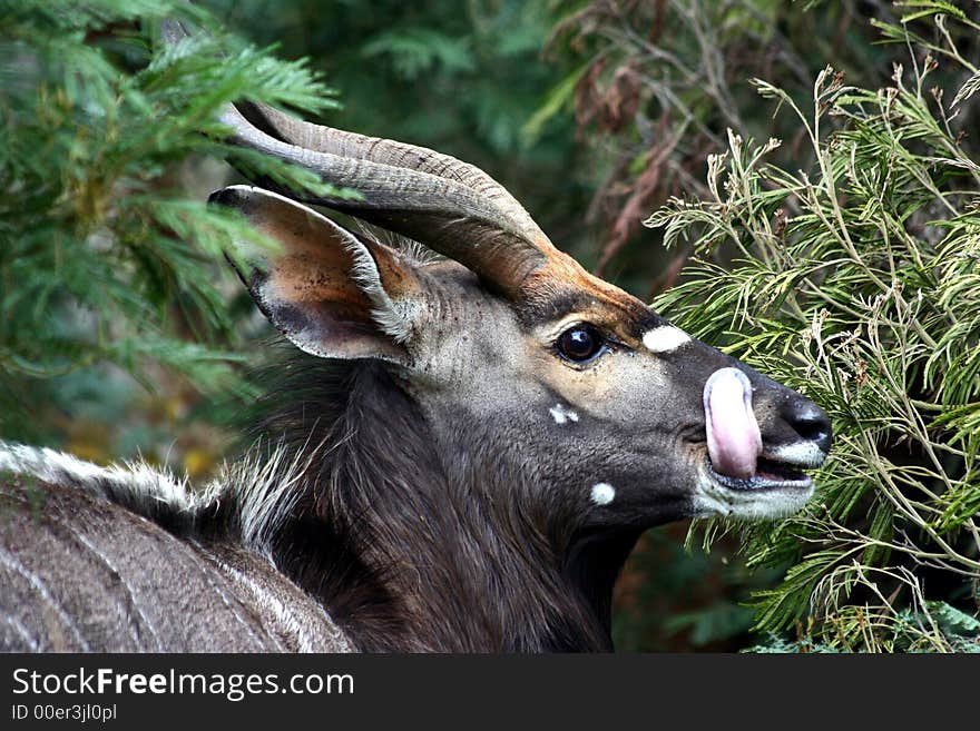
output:
[[[164,18],[210,32],[160,49]],[[167,374],[246,395],[223,251],[256,234],[188,190],[180,166],[234,157],[323,188],[233,151],[216,112],[242,98],[317,111],[329,89],[303,61],[227,53],[229,39],[185,2],[3,1],[0,29],[0,436],[65,438],[71,378],[100,369],[92,388],[110,391],[109,366],[148,389]],[[224,176],[213,165],[207,177]]]

